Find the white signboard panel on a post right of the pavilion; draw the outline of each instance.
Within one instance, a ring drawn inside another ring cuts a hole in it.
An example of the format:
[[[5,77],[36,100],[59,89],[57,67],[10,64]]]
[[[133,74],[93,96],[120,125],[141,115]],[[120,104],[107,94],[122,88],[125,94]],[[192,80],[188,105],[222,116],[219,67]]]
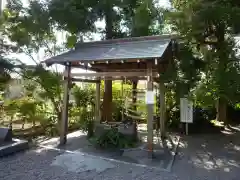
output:
[[[193,122],[193,103],[187,98],[180,99],[180,120],[184,123]]]

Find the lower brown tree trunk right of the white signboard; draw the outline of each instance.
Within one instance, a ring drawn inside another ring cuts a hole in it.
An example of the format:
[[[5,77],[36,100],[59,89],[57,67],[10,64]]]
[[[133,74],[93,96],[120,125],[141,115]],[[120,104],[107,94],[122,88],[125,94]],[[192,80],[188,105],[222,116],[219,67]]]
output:
[[[223,98],[218,99],[216,110],[217,121],[224,122],[224,125],[227,125],[227,102]]]

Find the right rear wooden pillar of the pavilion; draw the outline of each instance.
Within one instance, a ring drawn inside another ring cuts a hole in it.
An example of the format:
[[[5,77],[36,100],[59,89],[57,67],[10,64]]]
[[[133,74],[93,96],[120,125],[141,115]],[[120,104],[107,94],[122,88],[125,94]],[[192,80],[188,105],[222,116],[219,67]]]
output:
[[[161,137],[166,137],[166,102],[165,102],[165,86],[164,83],[160,80],[159,82],[159,90],[160,90],[160,132]]]

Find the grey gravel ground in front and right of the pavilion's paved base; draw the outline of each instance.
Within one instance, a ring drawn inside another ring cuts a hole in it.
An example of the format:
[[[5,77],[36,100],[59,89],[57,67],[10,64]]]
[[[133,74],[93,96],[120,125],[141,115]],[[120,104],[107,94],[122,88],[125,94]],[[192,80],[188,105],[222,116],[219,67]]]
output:
[[[37,148],[0,159],[0,180],[239,180],[239,139],[239,133],[183,136],[172,172]]]

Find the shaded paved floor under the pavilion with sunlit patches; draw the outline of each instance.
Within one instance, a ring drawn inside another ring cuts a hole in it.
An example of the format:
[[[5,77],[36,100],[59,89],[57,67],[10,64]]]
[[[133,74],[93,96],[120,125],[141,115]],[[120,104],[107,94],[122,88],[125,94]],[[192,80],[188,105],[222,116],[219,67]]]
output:
[[[154,157],[151,159],[149,158],[145,142],[146,131],[139,131],[139,135],[142,143],[138,147],[131,149],[102,150],[95,148],[81,131],[69,134],[65,146],[58,146],[57,138],[40,142],[40,145],[170,171],[174,161],[178,138],[175,135],[171,135],[165,141],[162,141],[156,134],[154,138]]]

